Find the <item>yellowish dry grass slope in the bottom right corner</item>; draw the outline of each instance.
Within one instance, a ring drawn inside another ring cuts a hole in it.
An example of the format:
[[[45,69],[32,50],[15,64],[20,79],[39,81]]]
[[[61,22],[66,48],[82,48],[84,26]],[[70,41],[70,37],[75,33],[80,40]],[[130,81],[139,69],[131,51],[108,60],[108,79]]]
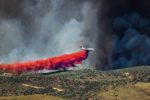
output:
[[[128,84],[124,87],[110,87],[100,91],[102,100],[150,100],[150,83]]]

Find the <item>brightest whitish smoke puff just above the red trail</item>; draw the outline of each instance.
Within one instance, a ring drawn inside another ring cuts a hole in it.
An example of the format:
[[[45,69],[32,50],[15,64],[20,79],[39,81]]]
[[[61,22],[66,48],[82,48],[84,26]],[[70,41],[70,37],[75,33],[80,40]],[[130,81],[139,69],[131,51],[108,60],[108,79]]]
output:
[[[54,48],[51,53],[62,54],[77,50],[83,40],[82,32],[83,24],[81,22],[78,22],[76,19],[66,22],[60,32],[53,37],[51,46],[54,46]],[[48,46],[47,52],[51,50],[51,46]]]

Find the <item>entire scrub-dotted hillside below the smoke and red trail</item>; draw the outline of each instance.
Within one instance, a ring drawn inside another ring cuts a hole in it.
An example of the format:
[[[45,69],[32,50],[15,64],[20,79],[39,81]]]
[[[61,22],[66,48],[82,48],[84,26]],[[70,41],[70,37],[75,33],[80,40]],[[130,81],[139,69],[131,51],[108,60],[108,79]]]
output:
[[[16,96],[29,100],[32,96],[34,98],[35,94],[48,98],[56,97],[57,100],[131,100],[131,97],[132,100],[141,100],[141,96],[142,100],[149,100],[150,67],[0,76],[1,100],[14,100],[14,96],[15,100]],[[48,98],[45,100],[49,100]]]

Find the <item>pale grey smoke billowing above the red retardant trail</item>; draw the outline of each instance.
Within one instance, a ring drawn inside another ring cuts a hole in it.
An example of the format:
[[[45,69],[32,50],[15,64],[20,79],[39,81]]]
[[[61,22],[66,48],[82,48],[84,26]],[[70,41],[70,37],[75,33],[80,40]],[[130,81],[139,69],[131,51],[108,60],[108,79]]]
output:
[[[98,32],[98,9],[92,1],[24,0],[20,5],[25,18],[0,19],[1,63],[70,53],[80,45],[94,47],[88,35]]]

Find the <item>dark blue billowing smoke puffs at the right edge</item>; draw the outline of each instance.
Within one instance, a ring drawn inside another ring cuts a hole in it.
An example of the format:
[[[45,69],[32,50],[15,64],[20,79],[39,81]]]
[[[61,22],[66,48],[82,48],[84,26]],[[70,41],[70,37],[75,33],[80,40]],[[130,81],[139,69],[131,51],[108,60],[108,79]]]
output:
[[[114,36],[113,63],[115,68],[149,65],[150,37],[141,31],[149,28],[150,20],[131,12],[114,19],[114,29],[122,36]]]

